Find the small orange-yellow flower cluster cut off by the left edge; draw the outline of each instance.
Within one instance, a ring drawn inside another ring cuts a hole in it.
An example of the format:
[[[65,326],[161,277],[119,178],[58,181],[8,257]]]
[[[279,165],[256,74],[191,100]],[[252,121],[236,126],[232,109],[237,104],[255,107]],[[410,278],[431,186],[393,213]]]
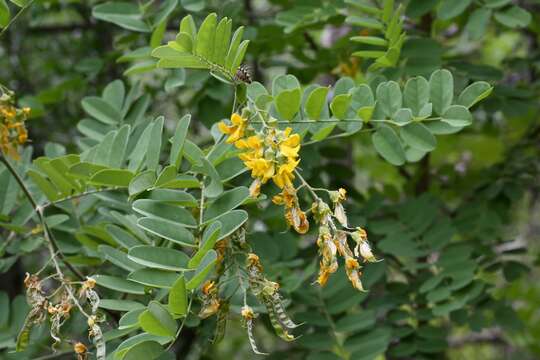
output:
[[[28,140],[24,122],[30,115],[30,108],[16,108],[13,94],[4,92],[0,96],[0,150],[13,158],[18,158],[17,147]]]

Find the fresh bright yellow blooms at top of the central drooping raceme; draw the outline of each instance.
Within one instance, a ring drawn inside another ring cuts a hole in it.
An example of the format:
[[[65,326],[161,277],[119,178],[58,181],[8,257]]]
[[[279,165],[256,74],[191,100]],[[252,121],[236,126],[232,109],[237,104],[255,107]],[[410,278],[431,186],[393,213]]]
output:
[[[250,188],[253,196],[270,179],[281,189],[293,188],[294,170],[300,162],[300,136],[291,134],[291,128],[265,127],[255,133],[248,128],[247,119],[236,113],[231,116],[231,125],[221,122],[218,126],[223,134],[229,135],[227,143],[244,151],[239,157],[255,178]],[[248,133],[253,135],[246,137]]]

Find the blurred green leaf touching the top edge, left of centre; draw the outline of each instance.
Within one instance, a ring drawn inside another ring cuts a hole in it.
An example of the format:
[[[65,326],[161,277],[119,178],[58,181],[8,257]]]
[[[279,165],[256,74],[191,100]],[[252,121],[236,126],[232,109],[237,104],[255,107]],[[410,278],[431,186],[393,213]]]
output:
[[[150,31],[150,27],[142,20],[139,7],[134,3],[111,1],[99,4],[92,8],[92,16],[124,29],[139,32]]]

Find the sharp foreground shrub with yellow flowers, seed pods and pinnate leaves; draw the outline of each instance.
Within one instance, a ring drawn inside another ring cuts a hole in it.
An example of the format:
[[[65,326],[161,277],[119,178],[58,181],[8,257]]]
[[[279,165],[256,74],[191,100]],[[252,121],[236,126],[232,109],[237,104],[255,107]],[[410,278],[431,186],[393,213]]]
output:
[[[114,359],[142,353],[157,358],[173,347],[188,321],[215,318],[212,341],[218,342],[227,319],[239,316],[253,351],[260,353],[253,334],[260,313],[268,314],[280,338],[293,340],[298,324],[285,310],[280,285],[264,273],[246,240],[250,207],[270,201],[283,207],[286,223],[299,234],[309,236],[310,223],[317,225],[313,243],[320,269],[314,286],[331,281],[343,262],[352,286],[364,291],[361,264],[376,261],[367,233],[348,223],[345,189],[315,188],[305,181],[302,147],[366,132],[390,163],[416,161],[435,148],[435,135],[469,125],[469,108],[491,91],[489,84],[476,82],[454,98],[447,70],[403,86],[383,81],[374,89],[350,78],[333,88],[302,87],[294,76],[282,75],[269,91],[239,71],[248,43],[241,28],[231,33],[229,19],[218,23],[211,14],[197,30],[188,16],[176,39],[153,52],[158,67],[206,69],[234,88],[230,119],[216,121],[210,146],[188,139],[189,115],[177,122],[170,143],[163,142],[164,118],[147,121],[143,97],[136,89],[126,95],[120,81],[107,86],[102,97],[83,101],[103,132],[96,135],[95,127],[83,123],[87,138],[80,154],[38,158],[21,176],[9,158],[14,151],[4,146],[16,149],[24,141],[2,138],[2,162],[32,205],[29,223],[43,236],[52,264],[52,270],[47,263],[25,280],[31,311],[19,350],[32,327],[48,321],[53,348],[71,343],[80,359],[91,353],[98,359],[110,353]],[[12,114],[24,126],[27,110],[17,110],[12,99],[8,103],[10,117],[3,117],[3,126],[11,129]],[[36,187],[29,187],[26,176]],[[270,200],[267,194],[273,194]],[[88,214],[89,207],[100,210]],[[74,266],[76,259],[58,246],[51,209],[81,212],[73,232],[81,251],[104,257],[112,268],[100,263],[82,273]],[[91,344],[62,334],[75,312],[86,318]]]

